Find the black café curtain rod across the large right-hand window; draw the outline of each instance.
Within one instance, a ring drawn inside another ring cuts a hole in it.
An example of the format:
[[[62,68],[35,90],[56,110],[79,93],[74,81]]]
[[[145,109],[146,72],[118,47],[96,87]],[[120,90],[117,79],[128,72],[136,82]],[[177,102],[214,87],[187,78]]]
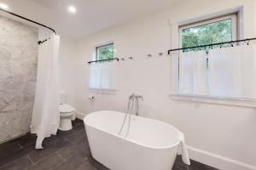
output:
[[[213,47],[213,46],[216,46],[216,45],[224,45],[224,44],[228,44],[228,43],[232,44],[232,46],[233,46],[233,43],[236,43],[236,42],[246,42],[248,44],[250,41],[253,41],[253,40],[256,40],[256,37],[242,39],[242,40],[236,40],[236,41],[230,41],[230,42],[211,43],[211,44],[207,44],[207,45],[200,45],[200,46],[194,46],[194,47],[189,47],[189,48],[176,48],[176,49],[168,50],[168,54],[171,54],[172,51],[180,51],[180,50],[192,49],[192,48],[207,48],[207,47],[210,48],[210,47]]]

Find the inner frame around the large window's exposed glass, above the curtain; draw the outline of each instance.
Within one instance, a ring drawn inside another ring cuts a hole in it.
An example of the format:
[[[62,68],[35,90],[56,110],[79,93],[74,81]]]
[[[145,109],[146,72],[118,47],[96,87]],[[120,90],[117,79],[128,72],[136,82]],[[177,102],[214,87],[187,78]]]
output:
[[[207,20],[199,20],[196,22],[192,22],[186,25],[178,26],[178,46],[179,48],[183,48],[183,42],[182,42],[182,33],[184,29],[193,28],[196,26],[204,26],[207,24],[211,24],[214,22],[222,21],[222,20],[232,20],[232,41],[236,41],[238,39],[239,35],[239,25],[238,25],[238,14],[225,14],[218,17],[214,17],[212,19]],[[207,44],[205,44],[207,45]]]

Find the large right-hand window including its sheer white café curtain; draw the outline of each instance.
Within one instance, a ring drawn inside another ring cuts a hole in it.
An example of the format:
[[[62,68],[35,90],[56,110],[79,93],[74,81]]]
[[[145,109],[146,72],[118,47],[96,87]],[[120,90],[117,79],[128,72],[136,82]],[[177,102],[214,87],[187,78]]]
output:
[[[237,40],[237,37],[237,14],[179,26],[180,48],[230,42]],[[242,58],[236,57],[236,49],[230,48],[231,45],[222,44],[181,51],[178,57],[178,94],[243,97],[244,90],[240,88],[243,85],[238,87],[240,82],[236,77],[241,72],[237,68],[241,68],[239,59]]]

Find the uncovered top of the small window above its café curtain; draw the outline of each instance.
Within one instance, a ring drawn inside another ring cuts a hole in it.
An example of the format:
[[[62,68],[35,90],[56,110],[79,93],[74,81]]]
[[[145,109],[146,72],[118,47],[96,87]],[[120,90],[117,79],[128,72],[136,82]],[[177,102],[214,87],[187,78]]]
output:
[[[96,60],[113,59],[113,43],[96,47]]]

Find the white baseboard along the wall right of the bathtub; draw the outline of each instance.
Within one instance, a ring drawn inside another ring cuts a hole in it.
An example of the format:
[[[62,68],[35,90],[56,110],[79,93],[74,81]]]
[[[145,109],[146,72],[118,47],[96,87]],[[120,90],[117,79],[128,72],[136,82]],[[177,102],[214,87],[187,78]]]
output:
[[[216,167],[221,170],[256,170],[256,167],[243,163],[241,161],[232,160],[228,157],[218,156],[205,150],[199,150],[188,146],[189,157],[192,160],[200,161],[211,167]]]

